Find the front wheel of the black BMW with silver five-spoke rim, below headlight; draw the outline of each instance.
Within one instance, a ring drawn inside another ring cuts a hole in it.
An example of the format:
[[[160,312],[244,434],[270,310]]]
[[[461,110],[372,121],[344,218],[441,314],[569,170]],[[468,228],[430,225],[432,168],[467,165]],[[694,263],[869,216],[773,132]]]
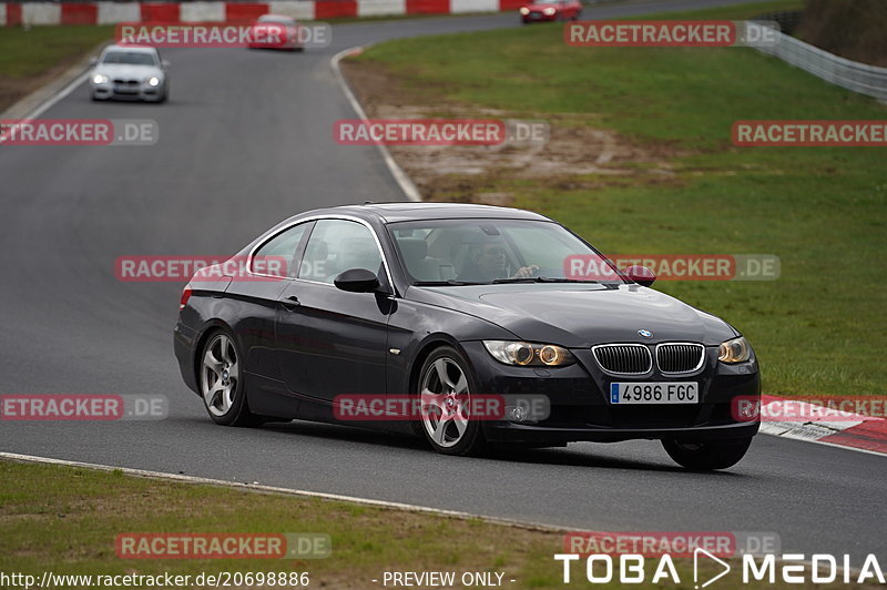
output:
[[[487,450],[481,425],[469,414],[476,380],[465,357],[441,346],[425,359],[419,372],[420,429],[431,447],[443,455],[478,456]]]

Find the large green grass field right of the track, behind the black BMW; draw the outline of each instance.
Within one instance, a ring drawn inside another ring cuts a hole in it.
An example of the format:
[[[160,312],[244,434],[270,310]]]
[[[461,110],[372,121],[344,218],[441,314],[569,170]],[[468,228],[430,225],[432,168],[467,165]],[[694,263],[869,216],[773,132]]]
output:
[[[741,19],[799,3],[667,17]],[[743,332],[768,394],[887,393],[887,152],[731,143],[736,120],[883,120],[884,105],[751,49],[572,48],[557,24],[397,40],[360,61],[397,75],[414,104],[548,116],[674,154],[675,175],[656,183],[638,175],[595,190],[509,180],[478,189],[516,194],[517,206],[604,252],[778,255],[777,281],[656,288]]]

